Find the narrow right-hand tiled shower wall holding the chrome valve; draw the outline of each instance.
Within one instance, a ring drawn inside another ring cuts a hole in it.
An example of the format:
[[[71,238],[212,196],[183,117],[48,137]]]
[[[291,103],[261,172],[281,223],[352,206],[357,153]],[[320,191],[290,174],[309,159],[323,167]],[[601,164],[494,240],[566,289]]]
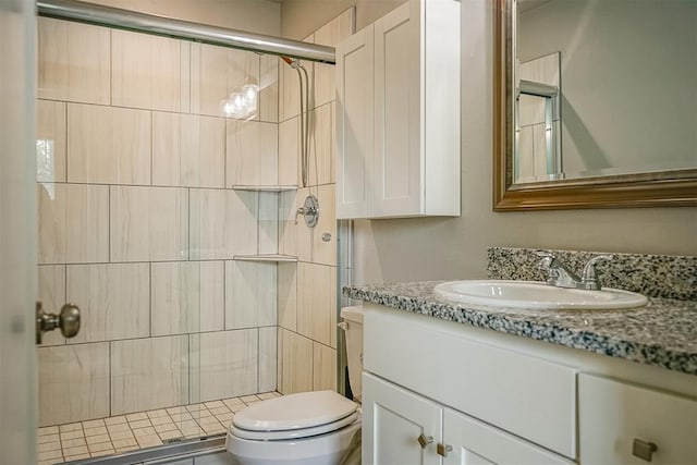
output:
[[[353,10],[326,24],[305,41],[335,46],[354,30]],[[334,66],[304,63],[314,81],[310,93],[309,186],[284,193],[279,248],[298,257],[279,265],[279,391],[337,389],[337,217],[334,213]],[[281,184],[301,182],[299,91],[296,72],[280,73],[279,176]],[[319,200],[319,222],[309,229],[294,212],[308,194]],[[322,240],[325,233],[331,240]]]

